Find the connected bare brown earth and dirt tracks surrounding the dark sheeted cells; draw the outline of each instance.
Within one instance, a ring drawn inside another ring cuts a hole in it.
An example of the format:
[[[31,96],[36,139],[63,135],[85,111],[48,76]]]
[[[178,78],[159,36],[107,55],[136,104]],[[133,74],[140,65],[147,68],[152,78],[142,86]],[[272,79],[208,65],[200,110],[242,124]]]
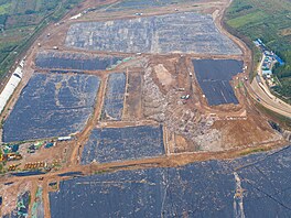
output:
[[[220,19],[224,9],[228,6],[228,0],[201,0],[195,3],[195,7],[192,4],[192,7],[186,4],[168,6],[159,8],[159,10],[144,9],[143,13],[146,17],[173,13],[175,8],[180,12],[198,11],[202,13],[212,13],[219,31],[239,45],[242,50],[242,55],[137,55],[88,52],[65,47],[66,32],[74,22],[136,18],[133,11],[94,11],[82,17],[80,20],[69,20],[77,11],[83,11],[88,7],[96,7],[100,2],[111,3],[116,1],[87,0],[79,8],[71,12],[71,14],[66,15],[63,23],[61,22],[58,25],[51,24],[39,37],[28,52],[24,78],[21,86],[18,87],[6,111],[1,115],[1,119],[9,115],[10,110],[8,109],[13,107],[20,91],[26,85],[33,72],[37,69],[34,65],[34,58],[39,51],[48,51],[53,46],[58,46],[58,51],[72,53],[122,55],[125,57],[133,56],[134,58],[118,65],[114,70],[85,72],[85,74],[98,75],[101,79],[93,116],[88,120],[85,129],[73,141],[57,142],[56,146],[48,150],[41,149],[35,154],[28,154],[23,150],[23,159],[13,162],[13,164],[20,164],[18,170],[23,170],[26,163],[42,161],[50,164],[52,168],[42,176],[11,177],[9,174],[1,176],[0,193],[3,197],[3,205],[1,207],[2,215],[14,209],[17,196],[25,189],[31,190],[31,200],[33,203],[36,187],[41,185],[43,187],[45,217],[50,217],[48,192],[51,187],[48,187],[48,183],[58,183],[61,179],[68,178],[61,178],[57,176],[60,173],[80,171],[84,175],[89,175],[96,172],[107,171],[179,166],[195,161],[231,159],[251,152],[254,149],[270,150],[287,144],[282,137],[270,128],[262,113],[252,106],[252,100],[250,100],[246,89],[249,87],[249,84],[244,79],[248,75],[248,70],[237,75],[231,81],[233,88],[239,81],[244,83],[244,87],[234,89],[239,105],[209,107],[205,97],[203,97],[191,58],[236,58],[242,59],[244,65],[249,66],[248,69],[250,68],[250,51],[241,41],[224,31],[220,25]],[[50,36],[47,36],[47,33],[50,33]],[[41,46],[37,46],[39,43]],[[108,74],[112,72],[125,72],[127,75],[122,120],[118,122],[103,122],[99,118],[106,84]],[[184,90],[179,90],[179,88],[184,88]],[[186,103],[183,103],[181,96],[187,94],[191,98]],[[158,123],[163,123],[164,126],[165,155],[154,159],[79,165],[82,151],[95,127],[122,128]],[[7,182],[13,182],[13,184],[4,185]]]

